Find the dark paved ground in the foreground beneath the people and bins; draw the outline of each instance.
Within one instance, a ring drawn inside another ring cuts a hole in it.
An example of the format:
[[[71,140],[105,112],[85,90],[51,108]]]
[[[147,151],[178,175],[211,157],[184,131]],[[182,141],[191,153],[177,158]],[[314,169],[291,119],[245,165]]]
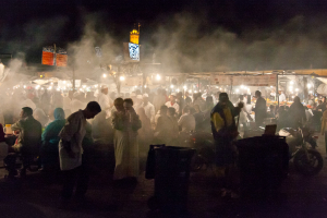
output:
[[[318,140],[318,150],[325,157],[324,140]],[[154,181],[144,173],[135,186],[114,187],[110,182],[109,166],[93,171],[88,204],[63,210],[58,208],[60,181],[46,184],[40,173],[29,173],[24,180],[0,179],[0,216],[43,217],[172,217],[149,213],[147,199],[153,195]],[[0,170],[3,178],[4,170]],[[189,214],[175,217],[327,217],[327,167],[313,177],[304,178],[290,168],[281,193],[265,201],[222,201],[213,185],[213,172],[192,173],[189,191]]]

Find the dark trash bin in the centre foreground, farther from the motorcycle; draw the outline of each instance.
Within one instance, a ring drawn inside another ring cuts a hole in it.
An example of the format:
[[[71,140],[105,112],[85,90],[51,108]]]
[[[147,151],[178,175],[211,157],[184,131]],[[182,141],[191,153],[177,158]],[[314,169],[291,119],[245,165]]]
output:
[[[165,146],[155,149],[155,194],[150,209],[162,213],[185,213],[191,159],[195,149]]]

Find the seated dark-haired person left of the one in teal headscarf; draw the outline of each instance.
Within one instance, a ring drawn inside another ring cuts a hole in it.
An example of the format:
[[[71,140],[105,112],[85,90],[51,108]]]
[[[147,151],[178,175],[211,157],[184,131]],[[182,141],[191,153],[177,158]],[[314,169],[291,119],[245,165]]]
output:
[[[21,120],[11,126],[13,131],[19,132],[19,136],[16,143],[12,147],[9,147],[9,152],[22,154],[23,165],[20,173],[21,175],[25,175],[32,158],[39,152],[43,128],[41,124],[34,119],[33,110],[29,107],[22,108],[20,118]],[[4,160],[10,175],[16,174],[15,157],[15,155],[11,155],[11,158],[5,158],[7,160],[11,159],[10,162]]]

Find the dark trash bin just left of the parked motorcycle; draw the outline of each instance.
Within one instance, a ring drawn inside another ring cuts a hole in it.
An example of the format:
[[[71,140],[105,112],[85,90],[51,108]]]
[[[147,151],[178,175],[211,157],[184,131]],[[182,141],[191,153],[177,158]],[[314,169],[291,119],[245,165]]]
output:
[[[281,136],[256,136],[237,142],[240,191],[245,197],[266,196],[288,174],[289,147]]]

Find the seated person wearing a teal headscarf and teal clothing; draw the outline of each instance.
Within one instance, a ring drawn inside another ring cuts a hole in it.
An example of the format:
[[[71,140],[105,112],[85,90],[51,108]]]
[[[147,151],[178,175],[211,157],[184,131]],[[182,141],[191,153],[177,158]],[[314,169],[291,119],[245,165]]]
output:
[[[65,124],[65,116],[62,108],[56,108],[53,111],[55,120],[47,125],[41,135],[41,164],[44,170],[58,167],[59,169],[59,150],[58,136]]]

